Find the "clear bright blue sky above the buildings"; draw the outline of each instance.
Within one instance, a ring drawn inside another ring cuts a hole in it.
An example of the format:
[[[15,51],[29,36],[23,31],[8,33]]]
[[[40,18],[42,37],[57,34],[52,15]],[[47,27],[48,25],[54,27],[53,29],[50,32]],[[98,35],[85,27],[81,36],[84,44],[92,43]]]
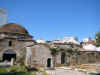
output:
[[[35,39],[94,38],[100,30],[100,0],[0,0],[8,22],[28,29]]]

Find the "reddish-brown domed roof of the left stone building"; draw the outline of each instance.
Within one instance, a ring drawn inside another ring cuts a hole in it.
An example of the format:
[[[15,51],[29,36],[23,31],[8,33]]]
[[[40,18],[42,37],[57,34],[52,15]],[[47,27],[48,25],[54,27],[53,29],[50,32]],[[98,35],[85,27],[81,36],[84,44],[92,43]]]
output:
[[[27,30],[19,24],[8,23],[0,27],[0,32],[28,34]]]

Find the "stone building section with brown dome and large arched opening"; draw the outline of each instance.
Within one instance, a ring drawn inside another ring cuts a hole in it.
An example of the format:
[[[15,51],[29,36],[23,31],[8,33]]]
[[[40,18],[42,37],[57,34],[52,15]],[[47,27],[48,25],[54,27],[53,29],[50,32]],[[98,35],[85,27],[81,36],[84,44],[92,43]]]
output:
[[[19,24],[8,23],[0,27],[0,60],[19,61],[25,48],[34,43],[32,36]]]

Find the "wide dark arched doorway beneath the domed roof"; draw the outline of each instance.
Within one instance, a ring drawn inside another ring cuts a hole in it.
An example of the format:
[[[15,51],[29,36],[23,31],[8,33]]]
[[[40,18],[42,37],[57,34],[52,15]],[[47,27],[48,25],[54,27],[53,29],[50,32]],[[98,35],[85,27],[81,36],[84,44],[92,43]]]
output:
[[[11,61],[11,59],[16,60],[16,52],[14,50],[7,50],[3,53],[3,61]]]

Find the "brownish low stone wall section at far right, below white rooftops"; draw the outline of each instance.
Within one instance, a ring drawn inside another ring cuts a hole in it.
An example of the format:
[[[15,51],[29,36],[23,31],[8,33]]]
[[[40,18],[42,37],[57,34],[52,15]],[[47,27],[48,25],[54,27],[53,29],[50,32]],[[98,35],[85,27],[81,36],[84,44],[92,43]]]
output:
[[[76,56],[77,64],[96,64],[100,63],[100,52],[98,51],[84,51]]]

